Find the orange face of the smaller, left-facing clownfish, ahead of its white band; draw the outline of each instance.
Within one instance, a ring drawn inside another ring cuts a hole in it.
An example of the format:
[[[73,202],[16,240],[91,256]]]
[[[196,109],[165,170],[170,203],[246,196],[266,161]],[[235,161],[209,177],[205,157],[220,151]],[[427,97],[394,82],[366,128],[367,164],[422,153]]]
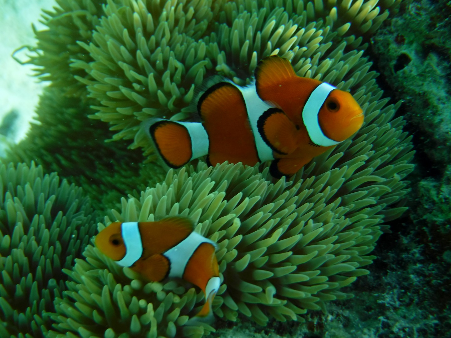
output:
[[[111,223],[95,239],[96,247],[113,260],[121,260],[127,251],[121,234],[121,224]]]

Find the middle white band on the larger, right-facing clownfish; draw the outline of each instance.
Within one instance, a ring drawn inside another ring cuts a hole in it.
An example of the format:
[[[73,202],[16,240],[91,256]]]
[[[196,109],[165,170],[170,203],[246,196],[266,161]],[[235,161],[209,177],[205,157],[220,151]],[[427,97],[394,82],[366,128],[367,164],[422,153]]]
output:
[[[235,85],[236,86],[236,85]],[[251,124],[253,137],[255,140],[255,146],[257,148],[258,158],[260,162],[267,160],[274,160],[272,155],[272,149],[263,140],[260,132],[258,132],[257,121],[258,118],[269,108],[273,108],[263,101],[257,94],[257,89],[255,88],[255,82],[252,82],[247,87],[236,86],[243,94],[244,103],[246,104],[246,109],[248,111],[248,118]]]

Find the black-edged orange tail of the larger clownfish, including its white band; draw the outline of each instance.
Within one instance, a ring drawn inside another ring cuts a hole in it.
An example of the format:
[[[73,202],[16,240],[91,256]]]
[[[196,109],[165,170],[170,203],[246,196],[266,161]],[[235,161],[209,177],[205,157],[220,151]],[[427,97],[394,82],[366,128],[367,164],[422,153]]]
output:
[[[202,123],[152,118],[143,122],[143,128],[170,168],[180,168],[208,153],[208,136]]]

